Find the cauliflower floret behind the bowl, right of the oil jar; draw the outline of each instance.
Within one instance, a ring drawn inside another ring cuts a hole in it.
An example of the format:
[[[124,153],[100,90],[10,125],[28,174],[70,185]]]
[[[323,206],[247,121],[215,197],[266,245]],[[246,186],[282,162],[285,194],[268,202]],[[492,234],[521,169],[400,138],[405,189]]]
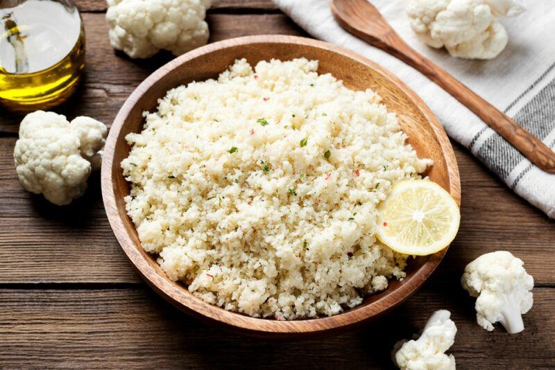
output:
[[[187,53],[208,40],[205,12],[212,0],[108,0],[110,44],[130,58],[164,49]]]

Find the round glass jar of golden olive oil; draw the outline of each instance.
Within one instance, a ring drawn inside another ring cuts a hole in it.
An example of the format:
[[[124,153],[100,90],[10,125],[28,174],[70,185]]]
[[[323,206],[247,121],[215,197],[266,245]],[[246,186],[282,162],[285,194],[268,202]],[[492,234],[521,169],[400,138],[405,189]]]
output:
[[[0,0],[0,103],[62,103],[84,67],[83,21],[71,0]]]

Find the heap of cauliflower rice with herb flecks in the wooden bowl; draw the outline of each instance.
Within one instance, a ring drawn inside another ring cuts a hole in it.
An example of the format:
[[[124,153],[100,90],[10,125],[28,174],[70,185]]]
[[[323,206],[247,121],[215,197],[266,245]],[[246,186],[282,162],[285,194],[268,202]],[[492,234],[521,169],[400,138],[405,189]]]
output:
[[[237,60],[168,91],[121,163],[142,246],[196,297],[253,317],[335,315],[402,279],[376,207],[429,159],[373,91],[318,61]]]

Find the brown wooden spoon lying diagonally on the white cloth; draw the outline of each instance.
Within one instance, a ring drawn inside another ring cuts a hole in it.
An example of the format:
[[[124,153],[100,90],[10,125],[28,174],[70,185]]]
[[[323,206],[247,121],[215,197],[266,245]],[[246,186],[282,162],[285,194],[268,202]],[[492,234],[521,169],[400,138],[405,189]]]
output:
[[[538,168],[555,173],[555,152],[441,67],[411,49],[367,0],[332,0],[332,13],[345,30],[418,69],[466,105]]]

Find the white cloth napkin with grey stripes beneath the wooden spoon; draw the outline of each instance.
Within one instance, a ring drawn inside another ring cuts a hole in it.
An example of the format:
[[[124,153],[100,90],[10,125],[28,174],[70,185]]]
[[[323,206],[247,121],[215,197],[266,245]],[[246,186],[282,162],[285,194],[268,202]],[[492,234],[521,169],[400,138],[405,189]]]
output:
[[[432,108],[452,139],[496,173],[515,193],[555,218],[555,175],[525,159],[450,94],[420,72],[357,39],[332,16],[330,0],[273,0],[313,37],[343,46],[377,62],[407,83]],[[414,35],[405,0],[372,0],[401,37],[477,94],[555,146],[555,6],[527,1],[522,15],[503,19],[509,44],[494,60],[462,60],[426,46]],[[463,200],[464,201],[464,200]]]

